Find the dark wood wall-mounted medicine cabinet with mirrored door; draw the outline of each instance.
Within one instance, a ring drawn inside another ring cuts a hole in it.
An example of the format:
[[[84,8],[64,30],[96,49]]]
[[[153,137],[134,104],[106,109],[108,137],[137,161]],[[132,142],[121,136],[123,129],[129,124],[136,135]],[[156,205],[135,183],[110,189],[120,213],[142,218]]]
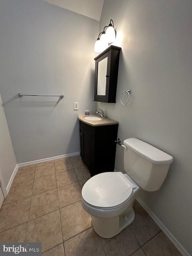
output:
[[[120,47],[111,45],[95,60],[94,101],[115,103]]]

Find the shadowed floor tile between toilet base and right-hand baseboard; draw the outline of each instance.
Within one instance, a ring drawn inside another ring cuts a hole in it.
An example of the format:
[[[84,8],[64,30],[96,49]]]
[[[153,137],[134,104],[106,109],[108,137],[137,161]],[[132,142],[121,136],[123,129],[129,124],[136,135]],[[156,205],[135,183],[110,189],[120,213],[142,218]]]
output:
[[[140,245],[142,245],[156,235],[160,228],[136,200],[134,202],[134,211],[135,219],[129,227]]]

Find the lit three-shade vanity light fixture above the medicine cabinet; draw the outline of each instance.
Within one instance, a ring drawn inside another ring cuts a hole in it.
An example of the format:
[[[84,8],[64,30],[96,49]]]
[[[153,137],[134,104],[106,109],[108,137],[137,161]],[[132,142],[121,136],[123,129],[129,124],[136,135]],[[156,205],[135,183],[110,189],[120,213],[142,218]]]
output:
[[[112,24],[111,22],[113,23],[113,20],[110,20],[109,26],[104,26],[103,31],[99,33],[98,38],[94,44],[94,52],[102,52],[109,46],[109,43],[115,41],[116,32],[114,30],[114,23]],[[106,32],[105,28],[107,28]]]

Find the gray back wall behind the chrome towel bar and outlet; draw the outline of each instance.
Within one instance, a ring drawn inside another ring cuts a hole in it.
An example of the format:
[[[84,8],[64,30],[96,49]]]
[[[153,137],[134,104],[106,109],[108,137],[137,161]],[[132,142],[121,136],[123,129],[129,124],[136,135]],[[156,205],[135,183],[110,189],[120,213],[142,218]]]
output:
[[[80,151],[77,116],[94,109],[98,30],[98,21],[41,0],[0,1],[0,93],[18,163]]]

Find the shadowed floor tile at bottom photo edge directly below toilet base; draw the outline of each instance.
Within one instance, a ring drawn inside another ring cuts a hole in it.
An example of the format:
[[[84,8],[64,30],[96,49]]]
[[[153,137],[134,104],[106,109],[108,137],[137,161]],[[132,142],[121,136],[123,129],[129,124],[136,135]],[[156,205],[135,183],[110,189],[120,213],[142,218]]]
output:
[[[127,256],[140,248],[129,227],[112,238],[101,238],[101,241],[107,256]]]

